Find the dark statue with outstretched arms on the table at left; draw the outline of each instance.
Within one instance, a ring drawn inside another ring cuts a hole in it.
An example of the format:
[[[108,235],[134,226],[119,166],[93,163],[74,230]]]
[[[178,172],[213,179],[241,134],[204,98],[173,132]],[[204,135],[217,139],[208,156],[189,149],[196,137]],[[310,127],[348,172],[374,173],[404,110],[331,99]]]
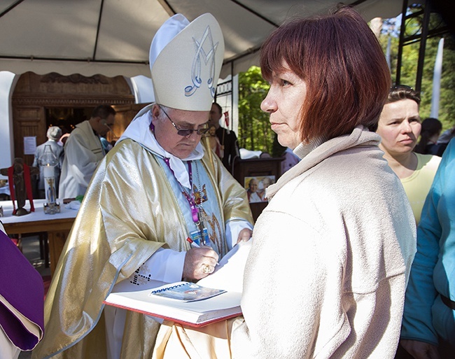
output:
[[[3,176],[8,176],[10,196],[13,201],[13,215],[24,216],[30,213],[24,208],[25,200],[30,202],[30,211],[34,212],[33,196],[31,195],[31,175],[38,174],[37,167],[29,167],[22,158],[15,158],[13,166],[0,169]],[[18,209],[15,208],[15,201],[18,202]]]

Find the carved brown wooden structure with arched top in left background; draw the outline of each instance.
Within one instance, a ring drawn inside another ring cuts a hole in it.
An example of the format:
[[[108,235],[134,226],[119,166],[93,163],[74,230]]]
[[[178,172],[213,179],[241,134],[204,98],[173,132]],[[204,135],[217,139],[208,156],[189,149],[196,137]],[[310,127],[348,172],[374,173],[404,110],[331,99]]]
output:
[[[36,136],[38,146],[47,141],[48,127],[58,125],[46,118],[46,110],[59,108],[66,113],[65,109],[85,108],[87,113],[81,120],[88,120],[92,109],[99,104],[109,104],[117,111],[113,134],[108,134],[109,141],[118,139],[137,111],[144,107],[134,104],[134,95],[123,76],[23,73],[12,96],[14,157],[22,157],[29,165],[33,162],[34,155],[24,154],[24,137]]]

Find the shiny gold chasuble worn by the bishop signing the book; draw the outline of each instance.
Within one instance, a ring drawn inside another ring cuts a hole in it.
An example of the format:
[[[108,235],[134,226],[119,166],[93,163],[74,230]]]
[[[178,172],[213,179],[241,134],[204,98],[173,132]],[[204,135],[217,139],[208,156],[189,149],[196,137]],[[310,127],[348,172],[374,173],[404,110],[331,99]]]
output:
[[[221,161],[211,164],[207,153],[202,164],[223,216],[219,223],[252,224],[241,185]],[[80,206],[45,300],[44,339],[32,358],[59,351],[55,358],[106,358],[103,300],[158,248],[188,251],[187,237],[183,213],[155,155],[131,139],[118,143],[99,164]],[[153,318],[128,311],[122,358],[151,358],[159,327]]]

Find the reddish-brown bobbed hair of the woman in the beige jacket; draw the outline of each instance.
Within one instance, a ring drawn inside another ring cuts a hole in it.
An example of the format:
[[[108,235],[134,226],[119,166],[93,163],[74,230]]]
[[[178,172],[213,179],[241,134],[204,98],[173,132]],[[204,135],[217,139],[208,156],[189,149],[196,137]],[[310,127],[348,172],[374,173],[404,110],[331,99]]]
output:
[[[379,41],[355,10],[342,7],[276,29],[262,45],[262,76],[271,80],[285,62],[307,85],[302,141],[349,134],[358,125],[377,127],[390,72]]]

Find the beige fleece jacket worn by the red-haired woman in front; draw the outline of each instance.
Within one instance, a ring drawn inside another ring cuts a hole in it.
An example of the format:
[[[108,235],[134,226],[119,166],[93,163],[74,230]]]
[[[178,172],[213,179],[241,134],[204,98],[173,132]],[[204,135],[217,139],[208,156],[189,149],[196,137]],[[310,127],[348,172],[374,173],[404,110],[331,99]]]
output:
[[[269,187],[234,358],[393,358],[416,228],[378,143],[358,127]]]

